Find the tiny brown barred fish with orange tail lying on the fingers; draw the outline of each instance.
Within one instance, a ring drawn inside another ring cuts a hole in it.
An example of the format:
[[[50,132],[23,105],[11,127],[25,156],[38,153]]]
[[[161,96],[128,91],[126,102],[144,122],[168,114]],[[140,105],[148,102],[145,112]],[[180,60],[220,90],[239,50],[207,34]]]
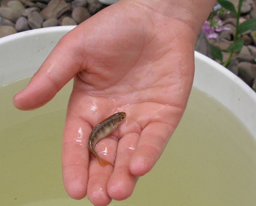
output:
[[[117,126],[123,122],[125,117],[125,112],[117,112],[114,115],[111,115],[97,126],[95,126],[89,136],[88,148],[90,149],[92,155],[97,157],[100,165],[103,167],[107,164],[111,165],[112,167],[114,167],[114,165],[107,160],[101,159],[100,156],[95,152],[94,147],[100,139],[103,139],[104,137],[107,137],[109,134],[111,134],[117,128]]]

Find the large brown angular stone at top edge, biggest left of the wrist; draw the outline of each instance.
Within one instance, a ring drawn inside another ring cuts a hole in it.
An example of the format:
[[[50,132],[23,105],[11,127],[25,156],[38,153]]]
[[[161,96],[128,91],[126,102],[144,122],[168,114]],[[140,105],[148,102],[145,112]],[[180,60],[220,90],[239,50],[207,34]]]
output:
[[[44,20],[51,18],[60,18],[62,14],[71,10],[71,5],[66,3],[65,0],[52,0],[47,7],[43,9],[40,14]]]

